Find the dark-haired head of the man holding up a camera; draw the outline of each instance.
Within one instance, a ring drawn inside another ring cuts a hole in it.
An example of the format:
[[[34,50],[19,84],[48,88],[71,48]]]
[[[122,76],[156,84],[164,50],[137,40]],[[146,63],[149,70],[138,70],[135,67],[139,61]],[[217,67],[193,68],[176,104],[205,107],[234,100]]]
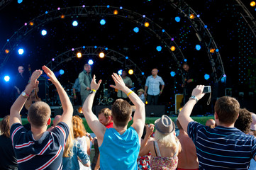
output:
[[[233,124],[239,115],[240,104],[235,98],[223,96],[215,103],[214,111],[218,116],[218,123]],[[217,119],[215,119],[217,120]]]

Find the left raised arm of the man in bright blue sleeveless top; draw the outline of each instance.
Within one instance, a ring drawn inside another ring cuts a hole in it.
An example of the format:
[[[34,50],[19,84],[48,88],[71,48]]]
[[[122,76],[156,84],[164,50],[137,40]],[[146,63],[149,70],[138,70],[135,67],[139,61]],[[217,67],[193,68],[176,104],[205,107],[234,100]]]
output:
[[[101,85],[101,80],[99,80],[98,84],[96,84],[95,78],[96,77],[94,75],[94,77],[91,80],[91,91],[93,91],[93,93],[87,96],[87,99],[84,101],[82,111],[84,114],[84,118],[87,120],[89,127],[98,138],[98,142],[100,146],[100,143],[103,141],[106,127],[99,122],[99,119],[96,117],[96,115],[94,115],[94,113],[91,110],[92,104],[94,103],[94,97],[95,97],[96,91],[99,89],[99,86]]]

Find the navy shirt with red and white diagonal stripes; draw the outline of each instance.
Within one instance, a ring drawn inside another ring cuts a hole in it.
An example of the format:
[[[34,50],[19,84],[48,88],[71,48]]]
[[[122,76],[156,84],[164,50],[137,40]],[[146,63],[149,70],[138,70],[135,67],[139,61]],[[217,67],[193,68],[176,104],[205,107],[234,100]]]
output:
[[[19,169],[62,169],[62,154],[69,134],[65,123],[58,123],[39,140],[20,123],[11,126],[11,142]]]

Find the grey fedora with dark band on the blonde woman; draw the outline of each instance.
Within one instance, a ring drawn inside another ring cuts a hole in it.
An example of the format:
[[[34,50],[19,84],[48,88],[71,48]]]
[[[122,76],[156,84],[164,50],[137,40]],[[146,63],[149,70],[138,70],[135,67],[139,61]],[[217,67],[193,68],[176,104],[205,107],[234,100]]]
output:
[[[162,115],[161,118],[155,120],[155,128],[162,134],[168,135],[175,130],[175,124],[167,115]]]

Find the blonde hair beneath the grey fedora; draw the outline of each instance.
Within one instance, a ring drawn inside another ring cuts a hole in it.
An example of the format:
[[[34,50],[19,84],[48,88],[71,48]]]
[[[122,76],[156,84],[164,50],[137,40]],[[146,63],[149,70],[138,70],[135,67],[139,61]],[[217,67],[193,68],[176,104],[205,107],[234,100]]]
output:
[[[174,147],[177,146],[177,137],[174,135],[174,132],[164,135],[158,130],[155,130],[155,141],[160,142],[165,147]]]

